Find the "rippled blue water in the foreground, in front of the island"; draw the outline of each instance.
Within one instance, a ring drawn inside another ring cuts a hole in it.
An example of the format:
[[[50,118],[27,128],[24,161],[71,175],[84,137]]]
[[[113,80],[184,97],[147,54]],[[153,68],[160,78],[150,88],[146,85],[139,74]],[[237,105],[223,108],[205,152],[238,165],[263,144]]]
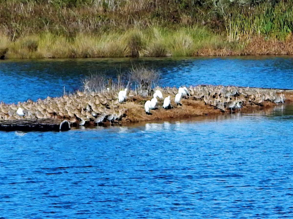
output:
[[[285,114],[0,132],[1,216],[292,218]]]

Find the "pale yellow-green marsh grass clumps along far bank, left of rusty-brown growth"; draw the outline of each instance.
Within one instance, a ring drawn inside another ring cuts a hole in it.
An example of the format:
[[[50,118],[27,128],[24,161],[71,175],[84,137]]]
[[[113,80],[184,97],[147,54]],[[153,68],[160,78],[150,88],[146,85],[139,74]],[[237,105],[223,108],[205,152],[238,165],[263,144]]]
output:
[[[215,49],[219,44],[225,44],[219,35],[198,26],[177,30],[154,26],[73,37],[48,32],[15,41],[2,36],[0,40],[0,48],[8,48],[9,58],[192,56],[199,49]]]

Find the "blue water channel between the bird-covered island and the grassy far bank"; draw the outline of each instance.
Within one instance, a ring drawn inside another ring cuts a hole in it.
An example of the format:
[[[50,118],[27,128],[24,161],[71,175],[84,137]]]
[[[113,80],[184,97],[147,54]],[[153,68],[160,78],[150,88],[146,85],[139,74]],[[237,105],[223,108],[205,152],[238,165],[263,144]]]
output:
[[[0,101],[17,103],[28,98],[56,97],[80,89],[90,74],[127,82],[132,66],[146,66],[161,73],[159,86],[235,85],[293,89],[293,57],[233,58],[140,58],[2,60],[0,62]]]

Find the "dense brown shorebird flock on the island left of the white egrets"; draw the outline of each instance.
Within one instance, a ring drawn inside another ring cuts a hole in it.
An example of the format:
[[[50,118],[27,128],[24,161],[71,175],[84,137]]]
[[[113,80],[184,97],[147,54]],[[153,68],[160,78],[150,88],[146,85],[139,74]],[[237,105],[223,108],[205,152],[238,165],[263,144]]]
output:
[[[118,97],[118,95],[117,95]],[[118,98],[109,93],[77,91],[62,97],[27,100],[18,104],[0,103],[0,119],[68,119],[84,125],[89,121],[118,122],[126,112]]]

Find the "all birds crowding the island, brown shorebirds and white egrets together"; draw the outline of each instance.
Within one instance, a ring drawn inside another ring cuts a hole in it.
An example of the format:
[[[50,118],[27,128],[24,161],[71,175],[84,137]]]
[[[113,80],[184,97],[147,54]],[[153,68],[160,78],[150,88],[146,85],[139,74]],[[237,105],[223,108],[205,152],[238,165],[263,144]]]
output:
[[[135,95],[135,92],[130,90],[127,97],[127,91],[125,89],[112,94],[108,90],[100,93],[77,91],[74,94],[56,98],[47,97],[35,102],[32,100],[18,104],[1,102],[0,119],[68,119],[71,123],[81,126],[107,121],[111,124],[118,123],[127,114],[125,102]],[[170,110],[173,107],[172,103],[174,106],[182,105],[181,98],[204,101],[206,105],[231,113],[245,105],[263,105],[265,101],[283,104],[285,101],[285,95],[280,90],[222,85],[198,85],[188,88],[183,86],[178,89],[157,87],[152,96],[153,98],[142,106],[147,114],[151,114],[151,110],[159,107]],[[162,105],[158,106],[158,99],[163,100]]]

